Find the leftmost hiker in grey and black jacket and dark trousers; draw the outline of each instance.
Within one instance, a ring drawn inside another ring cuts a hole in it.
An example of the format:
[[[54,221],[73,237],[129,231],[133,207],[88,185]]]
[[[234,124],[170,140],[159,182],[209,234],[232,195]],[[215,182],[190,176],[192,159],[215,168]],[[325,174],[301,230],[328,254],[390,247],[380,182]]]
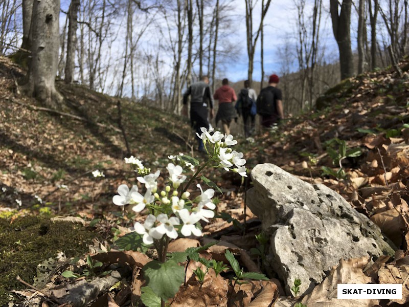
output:
[[[200,128],[205,127],[209,130],[208,120],[208,106],[210,106],[210,120],[214,116],[213,111],[213,96],[209,86],[209,78],[207,76],[201,77],[201,81],[193,83],[188,87],[188,90],[183,95],[182,115],[188,116],[188,96],[190,99],[190,123],[195,129],[196,133],[201,135]],[[196,136],[199,151],[205,150],[203,141]]]

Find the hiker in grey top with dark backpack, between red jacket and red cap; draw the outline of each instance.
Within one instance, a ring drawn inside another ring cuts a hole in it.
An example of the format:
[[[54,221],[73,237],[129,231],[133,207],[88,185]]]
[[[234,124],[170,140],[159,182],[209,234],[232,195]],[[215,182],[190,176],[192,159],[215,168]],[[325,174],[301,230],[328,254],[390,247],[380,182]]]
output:
[[[244,136],[248,138],[254,133],[257,113],[257,94],[250,88],[250,81],[244,81],[244,89],[238,95],[236,110],[239,116],[243,116]]]

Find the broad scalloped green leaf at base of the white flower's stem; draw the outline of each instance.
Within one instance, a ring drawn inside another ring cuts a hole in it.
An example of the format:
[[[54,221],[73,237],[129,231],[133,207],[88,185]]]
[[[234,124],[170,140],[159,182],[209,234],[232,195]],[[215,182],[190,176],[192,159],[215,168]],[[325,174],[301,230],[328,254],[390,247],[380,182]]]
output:
[[[174,297],[185,279],[185,269],[176,261],[152,260],[142,269],[147,286],[163,300]]]

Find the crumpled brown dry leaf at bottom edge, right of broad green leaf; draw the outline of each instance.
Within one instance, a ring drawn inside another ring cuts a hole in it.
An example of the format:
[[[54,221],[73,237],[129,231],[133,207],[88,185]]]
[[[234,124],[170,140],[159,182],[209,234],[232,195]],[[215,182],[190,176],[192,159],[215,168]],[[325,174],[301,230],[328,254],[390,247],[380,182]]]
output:
[[[201,287],[198,283],[180,287],[173,299],[172,307],[224,307],[227,306],[228,290],[228,281],[220,275],[216,277],[214,271],[210,270]]]

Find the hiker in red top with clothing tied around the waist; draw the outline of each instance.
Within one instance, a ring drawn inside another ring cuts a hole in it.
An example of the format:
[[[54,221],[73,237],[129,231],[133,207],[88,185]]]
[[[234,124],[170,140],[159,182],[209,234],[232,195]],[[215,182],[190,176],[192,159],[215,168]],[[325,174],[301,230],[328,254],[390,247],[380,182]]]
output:
[[[223,124],[223,130],[226,135],[230,135],[230,123],[233,118],[237,119],[236,110],[233,102],[237,100],[236,93],[229,86],[229,80],[224,78],[221,81],[222,86],[219,87],[213,95],[214,99],[219,100],[219,109],[216,115],[216,126],[219,120]]]

